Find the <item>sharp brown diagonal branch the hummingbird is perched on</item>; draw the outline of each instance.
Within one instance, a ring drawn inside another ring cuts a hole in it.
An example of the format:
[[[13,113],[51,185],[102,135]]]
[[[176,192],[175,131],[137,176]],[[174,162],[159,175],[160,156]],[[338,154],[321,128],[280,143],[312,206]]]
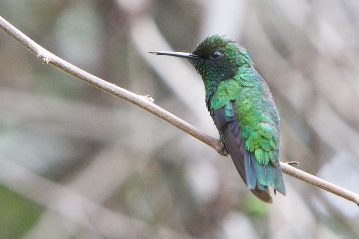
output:
[[[8,33],[15,40],[17,40],[19,43],[21,43],[23,46],[25,46],[27,49],[29,49],[29,51],[36,54],[37,57],[43,61],[43,63],[51,64],[59,68],[60,70],[65,71],[71,76],[74,76],[84,82],[89,83],[92,86],[95,86],[98,89],[106,91],[111,95],[120,97],[121,99],[127,100],[132,104],[135,104],[141,107],[142,109],[149,111],[150,113],[167,121],[168,123],[176,126],[177,128],[192,135],[193,137],[201,140],[205,144],[208,144],[210,147],[217,150],[217,152],[219,153],[222,152],[222,143],[218,139],[215,139],[209,136],[208,134],[205,134],[204,132],[195,128],[191,124],[188,124],[186,121],[169,113],[168,111],[162,109],[158,105],[155,105],[153,102],[151,102],[148,99],[148,97],[136,95],[131,91],[125,90],[121,87],[113,85],[112,83],[104,81],[64,61],[63,59],[57,57],[56,55],[52,54],[51,52],[47,51],[39,44],[31,40],[29,37],[27,37],[25,34],[20,32],[17,28],[15,28],[13,25],[8,23],[8,21],[6,21],[1,16],[0,16],[0,28],[4,30],[4,32]],[[334,193],[335,195],[343,197],[346,200],[352,201],[359,206],[359,195],[357,193],[336,186],[330,182],[322,180],[321,178],[318,178],[309,173],[294,168],[286,163],[281,163],[281,167],[284,173],[296,177],[313,186]]]

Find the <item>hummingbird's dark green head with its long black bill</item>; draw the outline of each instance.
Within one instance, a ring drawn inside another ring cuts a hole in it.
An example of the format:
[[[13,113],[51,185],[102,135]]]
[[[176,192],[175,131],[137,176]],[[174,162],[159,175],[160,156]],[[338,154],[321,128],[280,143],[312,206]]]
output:
[[[212,84],[235,75],[243,65],[253,65],[246,49],[236,40],[225,38],[223,35],[207,37],[191,53],[150,53],[187,58],[202,80]]]

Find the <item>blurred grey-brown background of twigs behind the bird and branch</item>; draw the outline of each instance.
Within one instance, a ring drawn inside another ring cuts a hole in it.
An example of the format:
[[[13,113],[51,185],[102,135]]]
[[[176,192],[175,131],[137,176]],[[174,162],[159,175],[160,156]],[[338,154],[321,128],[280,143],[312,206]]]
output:
[[[274,95],[281,161],[359,193],[356,0],[0,0],[57,56],[218,137],[188,62],[243,44]],[[0,32],[0,238],[359,238],[359,208],[284,175],[266,205],[230,158]],[[272,195],[273,196],[273,195]]]

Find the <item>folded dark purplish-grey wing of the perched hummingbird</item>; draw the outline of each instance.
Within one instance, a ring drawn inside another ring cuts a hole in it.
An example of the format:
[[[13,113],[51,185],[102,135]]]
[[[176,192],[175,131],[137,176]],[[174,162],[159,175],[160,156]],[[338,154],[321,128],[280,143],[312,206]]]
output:
[[[233,102],[230,101],[222,108],[214,110],[213,116],[214,124],[220,130],[225,145],[243,182],[247,187],[249,183],[250,187],[248,188],[258,199],[272,203],[273,201],[268,187],[261,186],[257,183],[256,170],[253,167],[253,159],[254,161],[256,161],[256,159],[254,154],[249,153],[246,147],[244,147],[237,116],[234,113]],[[253,159],[251,159],[251,157],[253,157]],[[258,187],[258,185],[261,187]]]

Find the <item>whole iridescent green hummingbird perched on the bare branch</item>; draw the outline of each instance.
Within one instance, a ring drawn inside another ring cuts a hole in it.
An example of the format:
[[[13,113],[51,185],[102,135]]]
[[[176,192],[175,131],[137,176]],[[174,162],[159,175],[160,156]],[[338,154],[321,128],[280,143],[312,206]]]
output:
[[[223,150],[228,150],[248,189],[267,203],[272,203],[269,186],[285,195],[278,110],[246,49],[234,39],[213,35],[191,53],[149,53],[188,59],[204,82],[206,105]]]

